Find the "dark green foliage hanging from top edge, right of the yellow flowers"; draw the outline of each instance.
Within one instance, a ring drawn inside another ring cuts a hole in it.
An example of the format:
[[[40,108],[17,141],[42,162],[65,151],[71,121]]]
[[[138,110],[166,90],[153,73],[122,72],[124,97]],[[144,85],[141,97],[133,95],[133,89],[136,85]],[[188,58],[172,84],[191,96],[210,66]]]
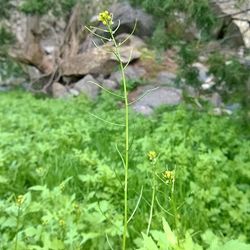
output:
[[[207,40],[216,24],[216,17],[208,0],[130,0],[130,2],[144,7],[155,16],[158,24],[152,42],[156,48],[164,49],[180,39],[185,40],[185,30],[192,22],[200,28],[201,38]],[[178,18],[176,13],[185,13],[186,20]]]

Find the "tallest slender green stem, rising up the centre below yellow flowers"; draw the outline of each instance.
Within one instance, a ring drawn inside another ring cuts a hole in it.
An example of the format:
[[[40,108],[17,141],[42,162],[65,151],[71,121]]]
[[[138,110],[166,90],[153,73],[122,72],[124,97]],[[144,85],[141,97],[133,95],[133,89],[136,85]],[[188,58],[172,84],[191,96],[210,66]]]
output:
[[[128,104],[128,92],[127,92],[125,69],[121,60],[119,46],[117,45],[117,42],[114,38],[111,27],[108,27],[108,29],[110,31],[111,38],[114,42],[115,55],[117,56],[117,59],[119,61],[119,66],[122,73],[123,95],[125,104],[124,222],[123,222],[123,240],[122,240],[122,250],[125,250],[127,241],[127,229],[128,229],[129,104]]]

